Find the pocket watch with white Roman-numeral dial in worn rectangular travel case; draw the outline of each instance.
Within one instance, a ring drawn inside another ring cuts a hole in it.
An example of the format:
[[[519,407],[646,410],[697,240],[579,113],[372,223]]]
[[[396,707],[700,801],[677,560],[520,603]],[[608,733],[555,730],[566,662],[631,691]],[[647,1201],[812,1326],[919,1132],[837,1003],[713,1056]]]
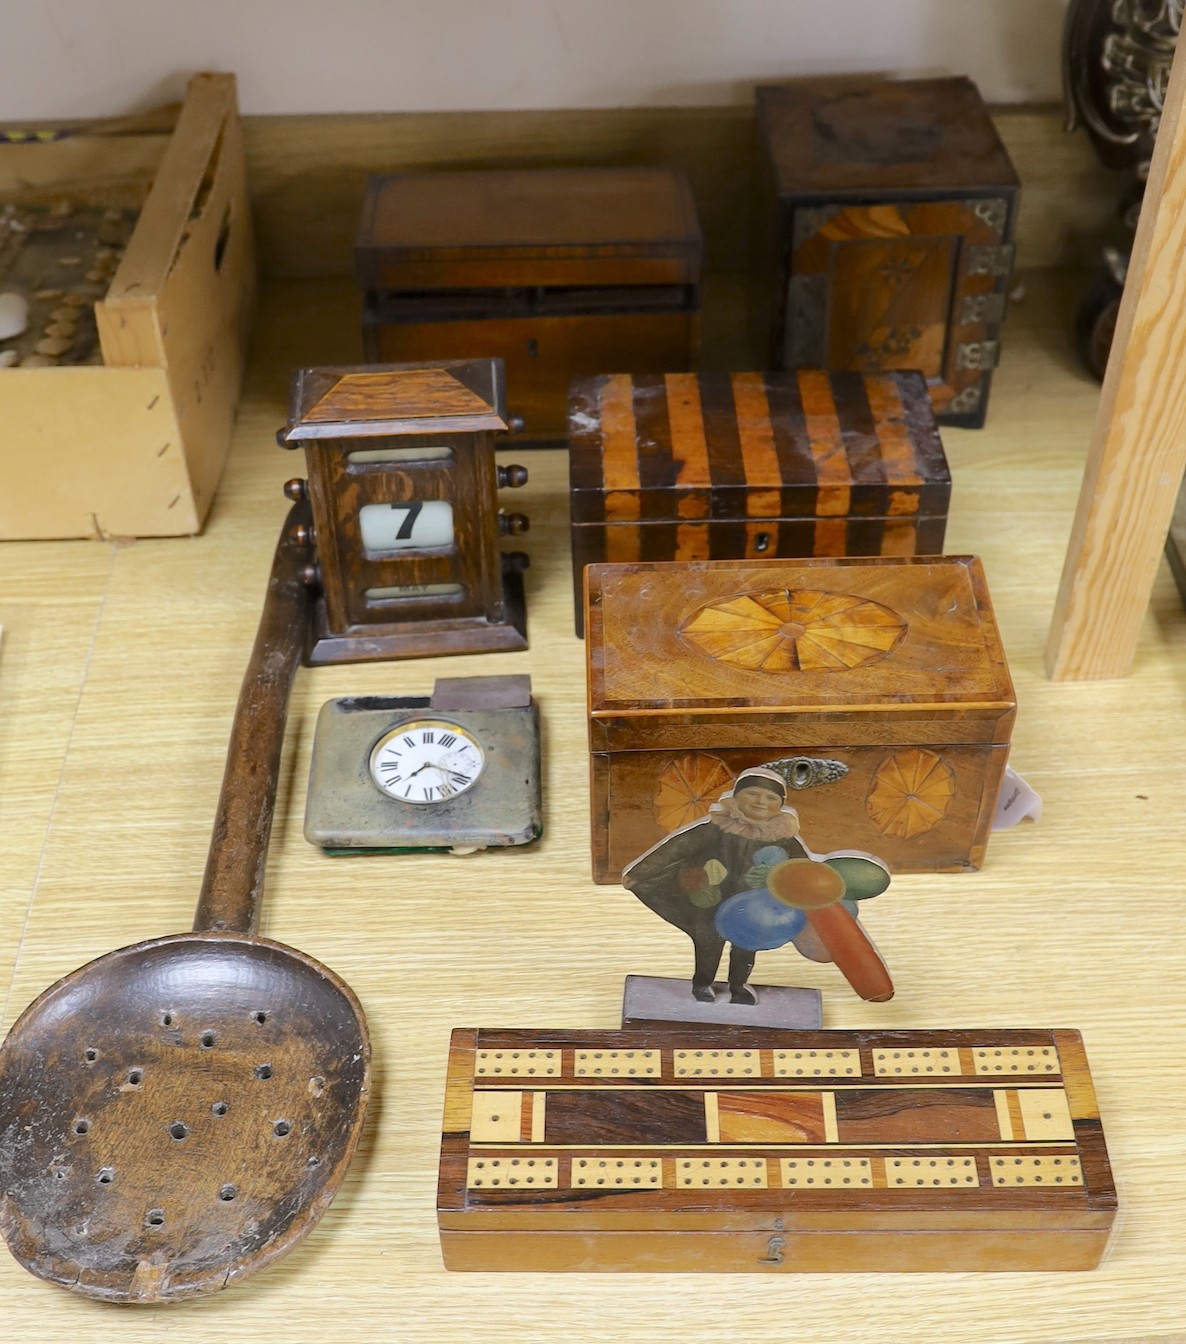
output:
[[[528,844],[541,831],[530,677],[441,677],[432,696],[321,707],[305,839],[327,853],[469,853]]]

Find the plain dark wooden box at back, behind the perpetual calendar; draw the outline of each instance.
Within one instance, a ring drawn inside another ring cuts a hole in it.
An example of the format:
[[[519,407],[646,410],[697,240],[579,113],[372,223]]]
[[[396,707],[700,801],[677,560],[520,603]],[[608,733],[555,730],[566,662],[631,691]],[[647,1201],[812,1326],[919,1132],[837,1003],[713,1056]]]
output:
[[[569,380],[691,367],[701,235],[675,168],[371,177],[368,360],[498,356],[518,438],[562,442]]]

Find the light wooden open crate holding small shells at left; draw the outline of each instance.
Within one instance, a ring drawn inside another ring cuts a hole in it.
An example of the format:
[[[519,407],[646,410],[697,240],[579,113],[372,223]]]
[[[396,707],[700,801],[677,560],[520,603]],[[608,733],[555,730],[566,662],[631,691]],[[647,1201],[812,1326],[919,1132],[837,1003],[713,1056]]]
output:
[[[167,141],[0,145],[0,200],[112,187],[147,194],[95,305],[102,366],[0,370],[4,540],[192,534],[218,488],[255,294],[234,77],[195,75]]]

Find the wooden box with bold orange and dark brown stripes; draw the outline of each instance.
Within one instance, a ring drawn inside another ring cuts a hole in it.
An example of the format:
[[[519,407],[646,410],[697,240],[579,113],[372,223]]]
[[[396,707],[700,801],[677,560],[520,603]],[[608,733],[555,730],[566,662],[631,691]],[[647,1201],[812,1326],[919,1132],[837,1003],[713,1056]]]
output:
[[[577,633],[598,560],[937,555],[951,474],[921,374],[612,374],[569,391]]]

